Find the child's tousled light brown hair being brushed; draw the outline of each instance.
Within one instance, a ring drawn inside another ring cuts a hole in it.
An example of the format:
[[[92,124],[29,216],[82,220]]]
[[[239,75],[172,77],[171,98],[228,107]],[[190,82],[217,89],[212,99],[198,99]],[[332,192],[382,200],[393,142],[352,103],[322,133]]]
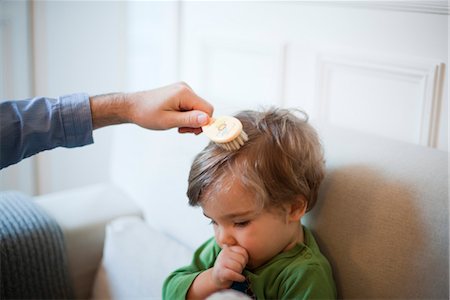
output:
[[[297,113],[277,108],[238,113],[235,117],[242,122],[248,141],[237,151],[211,142],[195,157],[189,174],[189,204],[200,205],[238,180],[261,208],[280,208],[304,196],[309,211],[324,177],[324,159],[307,114]]]

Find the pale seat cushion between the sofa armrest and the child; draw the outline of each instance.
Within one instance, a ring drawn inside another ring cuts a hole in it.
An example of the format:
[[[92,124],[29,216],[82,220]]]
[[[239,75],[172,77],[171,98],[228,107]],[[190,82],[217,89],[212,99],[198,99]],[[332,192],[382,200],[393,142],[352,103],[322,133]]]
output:
[[[93,299],[160,299],[164,279],[189,264],[192,254],[140,218],[116,219],[106,228]]]

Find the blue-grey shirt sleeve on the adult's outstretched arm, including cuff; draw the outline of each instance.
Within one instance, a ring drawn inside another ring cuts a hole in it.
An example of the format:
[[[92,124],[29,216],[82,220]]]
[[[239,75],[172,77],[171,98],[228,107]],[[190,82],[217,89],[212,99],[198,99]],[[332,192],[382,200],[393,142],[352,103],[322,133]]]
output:
[[[87,94],[0,102],[0,169],[40,151],[93,143]]]

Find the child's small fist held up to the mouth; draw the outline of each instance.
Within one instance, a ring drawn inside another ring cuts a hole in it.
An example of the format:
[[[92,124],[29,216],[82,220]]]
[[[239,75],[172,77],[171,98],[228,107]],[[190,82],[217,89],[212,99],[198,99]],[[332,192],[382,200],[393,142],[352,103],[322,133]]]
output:
[[[220,288],[229,288],[233,281],[243,282],[242,271],[248,262],[247,250],[241,246],[224,246],[217,256],[212,270],[214,284]]]

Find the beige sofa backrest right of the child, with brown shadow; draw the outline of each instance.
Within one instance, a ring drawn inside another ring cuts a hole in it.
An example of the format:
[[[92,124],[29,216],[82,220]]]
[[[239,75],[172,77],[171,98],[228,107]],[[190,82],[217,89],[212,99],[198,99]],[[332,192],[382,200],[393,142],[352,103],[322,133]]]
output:
[[[448,299],[448,154],[324,132],[327,171],[305,223],[343,298]]]

